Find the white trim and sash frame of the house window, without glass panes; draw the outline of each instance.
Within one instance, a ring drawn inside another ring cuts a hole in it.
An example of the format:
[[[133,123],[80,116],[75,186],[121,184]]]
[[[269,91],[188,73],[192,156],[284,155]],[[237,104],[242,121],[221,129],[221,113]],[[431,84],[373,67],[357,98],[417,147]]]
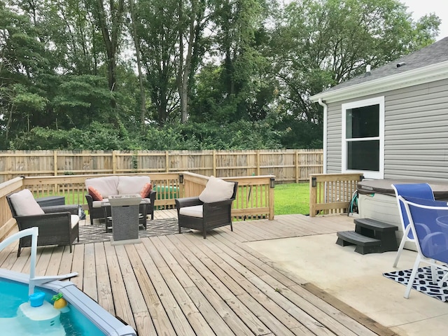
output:
[[[373,172],[371,170],[352,170],[347,169],[347,141],[346,141],[346,111],[349,109],[357,109],[359,107],[379,105],[379,137],[363,138],[366,139],[379,139],[379,172]],[[358,100],[357,102],[351,102],[342,104],[342,158],[341,158],[341,172],[342,173],[354,173],[361,172],[365,179],[384,179],[384,96],[374,97],[370,99]]]

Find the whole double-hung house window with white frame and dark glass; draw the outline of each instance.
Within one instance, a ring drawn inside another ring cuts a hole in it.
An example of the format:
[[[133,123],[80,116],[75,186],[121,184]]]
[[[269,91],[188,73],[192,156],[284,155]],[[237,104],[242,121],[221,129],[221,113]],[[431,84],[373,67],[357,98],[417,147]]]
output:
[[[384,97],[342,104],[342,172],[384,178]]]

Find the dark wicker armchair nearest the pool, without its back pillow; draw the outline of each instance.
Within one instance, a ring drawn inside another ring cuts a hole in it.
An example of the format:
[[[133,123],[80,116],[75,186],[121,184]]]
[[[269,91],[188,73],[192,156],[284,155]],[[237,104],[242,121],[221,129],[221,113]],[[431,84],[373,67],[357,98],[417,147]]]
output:
[[[12,194],[11,194],[12,195]],[[52,207],[42,207],[45,214],[18,216],[18,211],[10,200],[10,195],[6,196],[13,218],[17,221],[19,230],[38,227],[38,246],[46,245],[69,245],[75,239],[79,241],[79,217],[77,205],[59,205]],[[72,216],[73,215],[73,216]],[[23,247],[31,246],[31,236],[23,237],[19,241],[17,256]]]

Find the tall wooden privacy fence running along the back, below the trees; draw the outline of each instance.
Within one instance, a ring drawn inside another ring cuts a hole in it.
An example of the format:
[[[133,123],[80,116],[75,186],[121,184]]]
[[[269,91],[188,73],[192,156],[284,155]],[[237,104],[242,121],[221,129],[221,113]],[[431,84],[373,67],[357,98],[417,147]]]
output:
[[[17,176],[193,172],[204,176],[274,175],[304,182],[323,172],[322,150],[2,151],[0,183]]]

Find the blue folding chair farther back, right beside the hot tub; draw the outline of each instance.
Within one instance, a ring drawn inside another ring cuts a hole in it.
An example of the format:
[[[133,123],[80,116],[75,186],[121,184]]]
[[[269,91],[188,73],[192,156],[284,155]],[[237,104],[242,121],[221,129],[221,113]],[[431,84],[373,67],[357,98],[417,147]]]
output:
[[[397,198],[398,210],[400,211],[401,227],[403,231],[403,237],[398,247],[393,267],[397,267],[400,255],[405,247],[407,241],[415,242],[414,236],[411,230],[408,228],[409,220],[406,216],[405,205],[400,202],[399,196],[403,197],[417,197],[425,200],[434,200],[433,189],[428,183],[408,183],[408,184],[393,184],[393,190],[395,190],[395,196]]]

